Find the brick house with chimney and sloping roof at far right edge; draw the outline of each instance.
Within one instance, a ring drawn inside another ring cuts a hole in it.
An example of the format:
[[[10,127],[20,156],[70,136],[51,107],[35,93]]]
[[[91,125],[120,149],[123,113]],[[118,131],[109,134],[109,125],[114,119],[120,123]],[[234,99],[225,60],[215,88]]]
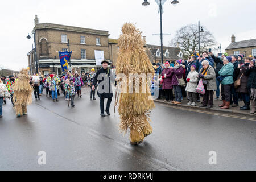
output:
[[[226,48],[226,53],[229,55],[256,56],[256,39],[236,42],[236,37],[232,35],[231,44]]]

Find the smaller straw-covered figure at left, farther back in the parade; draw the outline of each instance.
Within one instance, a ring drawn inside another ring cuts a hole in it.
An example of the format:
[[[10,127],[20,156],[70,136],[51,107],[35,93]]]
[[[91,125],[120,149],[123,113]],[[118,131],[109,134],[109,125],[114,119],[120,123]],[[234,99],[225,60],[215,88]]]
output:
[[[27,69],[22,69],[18,75],[18,81],[15,82],[13,87],[13,101],[14,109],[16,110],[17,117],[27,114],[27,105],[32,102],[33,89],[30,85],[30,75]]]

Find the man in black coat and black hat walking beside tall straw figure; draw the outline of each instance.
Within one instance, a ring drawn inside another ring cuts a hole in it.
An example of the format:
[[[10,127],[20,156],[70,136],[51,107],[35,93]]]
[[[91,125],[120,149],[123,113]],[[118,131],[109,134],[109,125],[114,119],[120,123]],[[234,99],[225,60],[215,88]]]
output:
[[[93,80],[93,84],[92,84],[92,90],[95,90],[95,85],[98,82],[98,92],[97,95],[98,97],[100,97],[100,107],[101,107],[101,116],[102,117],[106,117],[105,112],[104,112],[104,100],[105,98],[108,98],[108,102],[106,105],[106,113],[108,115],[110,115],[109,112],[109,107],[110,104],[112,102],[112,97],[113,97],[113,92],[111,89],[111,84],[110,84],[110,78],[111,78],[111,74],[110,74],[110,69],[108,68],[108,60],[103,60],[101,62],[102,64],[102,68],[97,71],[94,80]],[[106,88],[105,88],[106,86]]]

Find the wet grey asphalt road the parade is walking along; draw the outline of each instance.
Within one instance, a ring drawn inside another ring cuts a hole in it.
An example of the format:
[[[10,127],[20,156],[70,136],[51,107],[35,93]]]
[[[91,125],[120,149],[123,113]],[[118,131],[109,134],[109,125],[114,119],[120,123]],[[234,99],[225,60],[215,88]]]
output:
[[[256,119],[155,102],[150,118],[153,133],[131,146],[120,134],[114,101],[109,117],[100,117],[99,98],[89,100],[90,88],[68,107],[42,95],[16,118],[11,102],[0,118],[0,170],[256,170]],[[45,92],[45,90],[44,90]],[[106,103],[105,103],[106,104]],[[40,151],[46,165],[40,165]],[[216,164],[209,163],[212,151]]]

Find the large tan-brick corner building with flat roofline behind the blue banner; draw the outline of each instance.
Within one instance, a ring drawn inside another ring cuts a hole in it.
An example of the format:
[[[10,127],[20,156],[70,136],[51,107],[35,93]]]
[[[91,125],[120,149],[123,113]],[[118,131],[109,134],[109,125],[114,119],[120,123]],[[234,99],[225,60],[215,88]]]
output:
[[[68,51],[68,48],[73,51],[71,68],[79,73],[90,71],[91,68],[97,71],[100,68],[96,66],[95,50],[104,51],[104,59],[110,59],[108,31],[39,23],[36,16],[33,32],[35,32],[38,71],[44,75],[52,72],[61,75],[58,51]],[[28,52],[27,57],[31,73],[36,73],[35,49]]]

